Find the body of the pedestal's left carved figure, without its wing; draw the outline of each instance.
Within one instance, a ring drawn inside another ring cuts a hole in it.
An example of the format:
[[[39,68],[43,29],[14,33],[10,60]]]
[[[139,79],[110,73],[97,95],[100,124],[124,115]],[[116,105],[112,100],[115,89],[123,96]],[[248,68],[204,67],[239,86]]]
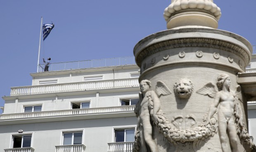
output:
[[[147,143],[151,152],[158,152],[157,145],[152,139],[152,125],[150,123],[150,111],[149,111],[149,97],[152,98],[154,102],[154,114],[157,113],[160,109],[159,99],[154,91],[149,91],[151,87],[151,83],[148,80],[142,80],[140,82],[140,101],[138,105],[136,105],[137,111],[135,111],[136,116],[138,117],[138,126],[140,127],[140,131],[142,131],[142,140],[140,143]],[[154,115],[153,114],[153,115]],[[145,141],[145,142],[144,142]],[[144,145],[145,146],[145,145]]]

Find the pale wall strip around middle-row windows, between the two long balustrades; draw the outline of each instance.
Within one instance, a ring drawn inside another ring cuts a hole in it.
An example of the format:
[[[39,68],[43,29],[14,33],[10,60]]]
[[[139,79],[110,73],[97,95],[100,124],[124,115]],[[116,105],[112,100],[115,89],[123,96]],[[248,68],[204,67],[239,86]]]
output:
[[[121,106],[120,99],[138,98],[138,91],[92,93],[69,96],[7,100],[3,114],[23,113],[24,106],[42,105],[42,111],[71,109],[72,102],[90,101],[90,108]],[[97,98],[98,94],[98,98]]]

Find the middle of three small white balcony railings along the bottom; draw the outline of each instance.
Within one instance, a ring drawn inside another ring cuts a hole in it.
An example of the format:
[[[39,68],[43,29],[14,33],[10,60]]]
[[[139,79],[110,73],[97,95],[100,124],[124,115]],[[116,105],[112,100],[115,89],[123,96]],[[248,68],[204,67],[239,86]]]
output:
[[[62,146],[55,146],[55,152],[85,152],[85,145],[62,145]]]

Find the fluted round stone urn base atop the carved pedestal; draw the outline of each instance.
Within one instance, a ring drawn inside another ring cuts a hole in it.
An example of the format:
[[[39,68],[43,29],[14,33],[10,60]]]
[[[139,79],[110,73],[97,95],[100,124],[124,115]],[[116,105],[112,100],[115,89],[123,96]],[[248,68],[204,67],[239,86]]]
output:
[[[164,10],[167,29],[191,25],[218,28],[220,16],[213,0],[171,0]]]

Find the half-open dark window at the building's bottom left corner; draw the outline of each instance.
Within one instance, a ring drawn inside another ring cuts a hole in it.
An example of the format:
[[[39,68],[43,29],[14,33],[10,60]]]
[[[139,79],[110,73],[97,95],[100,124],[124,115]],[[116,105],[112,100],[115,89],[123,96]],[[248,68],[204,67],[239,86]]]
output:
[[[31,147],[31,138],[32,135],[14,135],[13,148]]]

